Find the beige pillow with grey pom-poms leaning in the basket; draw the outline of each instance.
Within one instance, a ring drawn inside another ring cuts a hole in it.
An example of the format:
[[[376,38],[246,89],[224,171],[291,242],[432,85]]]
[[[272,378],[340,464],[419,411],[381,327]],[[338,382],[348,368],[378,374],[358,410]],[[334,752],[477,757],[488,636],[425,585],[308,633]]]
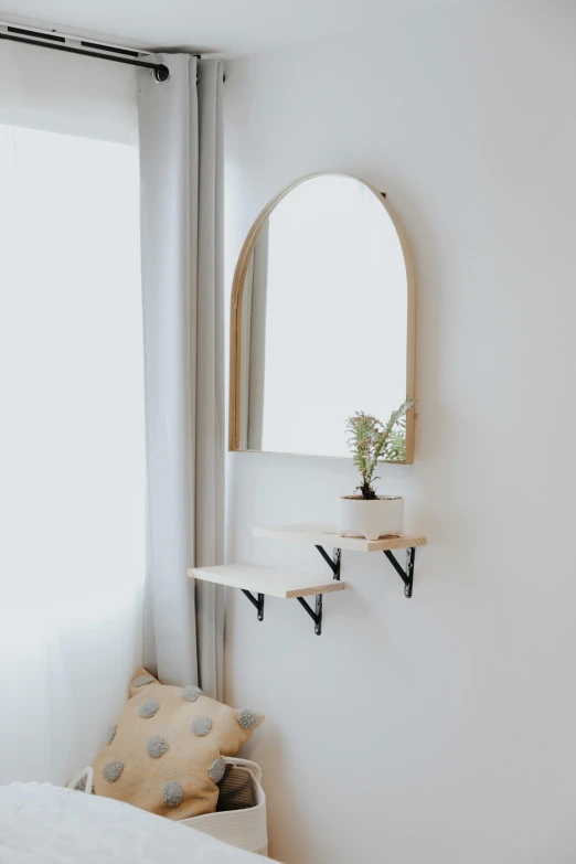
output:
[[[190,684],[174,687],[139,669],[110,740],[93,765],[94,791],[169,819],[212,813],[234,756],[264,721]]]

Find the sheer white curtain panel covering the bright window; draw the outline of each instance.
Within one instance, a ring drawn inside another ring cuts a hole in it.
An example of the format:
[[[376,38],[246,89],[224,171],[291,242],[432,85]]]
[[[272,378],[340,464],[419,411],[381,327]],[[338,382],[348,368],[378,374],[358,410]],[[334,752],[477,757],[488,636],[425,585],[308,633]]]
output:
[[[142,660],[136,72],[0,43],[0,782],[64,782]]]

